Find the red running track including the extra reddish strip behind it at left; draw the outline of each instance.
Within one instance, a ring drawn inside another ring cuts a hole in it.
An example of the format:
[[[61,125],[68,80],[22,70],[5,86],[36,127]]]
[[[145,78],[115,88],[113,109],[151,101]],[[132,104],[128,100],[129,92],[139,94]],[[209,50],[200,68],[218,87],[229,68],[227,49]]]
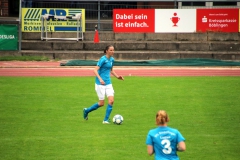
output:
[[[66,67],[60,62],[0,61],[0,76],[15,77],[80,77],[94,76],[94,66]],[[239,67],[120,67],[114,70],[122,76],[240,76]]]

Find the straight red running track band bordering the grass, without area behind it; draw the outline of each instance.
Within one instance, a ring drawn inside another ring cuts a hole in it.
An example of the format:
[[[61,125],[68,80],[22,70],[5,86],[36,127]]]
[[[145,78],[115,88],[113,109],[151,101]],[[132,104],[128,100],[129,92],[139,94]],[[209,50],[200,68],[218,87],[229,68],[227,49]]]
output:
[[[122,76],[240,76],[240,68],[117,68]],[[0,68],[0,76],[80,77],[94,76],[93,68]]]

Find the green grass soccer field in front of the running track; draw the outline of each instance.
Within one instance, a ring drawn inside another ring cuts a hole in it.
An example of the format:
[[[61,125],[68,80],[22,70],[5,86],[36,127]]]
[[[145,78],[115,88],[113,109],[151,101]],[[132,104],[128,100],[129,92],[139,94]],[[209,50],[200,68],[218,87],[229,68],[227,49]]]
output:
[[[146,135],[166,110],[186,138],[183,160],[238,160],[240,77],[112,79],[115,114],[103,125],[93,77],[0,77],[0,157],[4,160],[147,160]],[[106,101],[107,104],[107,101]]]

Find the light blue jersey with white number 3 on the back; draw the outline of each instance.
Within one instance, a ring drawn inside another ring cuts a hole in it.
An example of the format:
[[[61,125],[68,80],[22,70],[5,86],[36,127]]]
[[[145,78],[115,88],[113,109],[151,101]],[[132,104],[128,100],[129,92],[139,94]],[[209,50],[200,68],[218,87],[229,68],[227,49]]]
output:
[[[177,129],[158,127],[148,132],[146,144],[153,146],[155,160],[179,160],[177,144],[182,141],[185,138]]]

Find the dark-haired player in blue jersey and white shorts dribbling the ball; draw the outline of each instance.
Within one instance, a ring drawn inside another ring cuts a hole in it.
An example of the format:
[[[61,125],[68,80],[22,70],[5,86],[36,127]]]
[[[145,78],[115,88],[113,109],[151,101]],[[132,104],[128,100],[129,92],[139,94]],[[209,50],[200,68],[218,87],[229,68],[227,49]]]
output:
[[[118,76],[116,72],[113,70],[114,64],[114,47],[109,45],[104,50],[105,55],[102,56],[97,66],[94,69],[94,74],[96,75],[95,79],[95,90],[98,95],[99,101],[89,108],[83,109],[83,118],[88,120],[88,114],[99,107],[104,106],[105,96],[108,98],[108,105],[106,108],[106,114],[103,119],[103,124],[109,124],[109,116],[112,112],[113,102],[114,102],[114,90],[111,82],[111,74],[115,76],[119,80],[124,80],[122,76]]]

